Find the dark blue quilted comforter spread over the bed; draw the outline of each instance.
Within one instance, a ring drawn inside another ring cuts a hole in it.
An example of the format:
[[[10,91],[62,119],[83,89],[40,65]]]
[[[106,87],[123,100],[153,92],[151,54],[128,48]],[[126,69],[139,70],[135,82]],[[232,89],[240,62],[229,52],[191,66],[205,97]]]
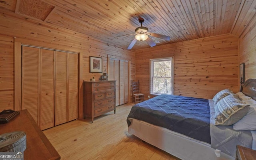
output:
[[[143,120],[211,144],[207,99],[162,94],[134,105],[128,118]],[[127,123],[130,126],[128,119]]]

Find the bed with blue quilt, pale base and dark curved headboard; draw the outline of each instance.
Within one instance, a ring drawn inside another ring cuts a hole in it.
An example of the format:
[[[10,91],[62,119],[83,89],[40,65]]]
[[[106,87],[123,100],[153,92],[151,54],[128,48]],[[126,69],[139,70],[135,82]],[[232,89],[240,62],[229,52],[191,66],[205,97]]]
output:
[[[241,91],[243,96],[227,94],[218,101],[218,96],[213,100],[156,96],[132,107],[127,118],[128,132],[182,160],[234,160],[236,145],[256,148],[255,128],[234,129],[253,110],[245,101],[256,100],[256,80],[248,79]],[[243,101],[240,105],[243,108],[231,116],[233,119],[222,117],[218,121],[216,108],[232,96]],[[229,124],[239,116],[242,117],[238,122]]]

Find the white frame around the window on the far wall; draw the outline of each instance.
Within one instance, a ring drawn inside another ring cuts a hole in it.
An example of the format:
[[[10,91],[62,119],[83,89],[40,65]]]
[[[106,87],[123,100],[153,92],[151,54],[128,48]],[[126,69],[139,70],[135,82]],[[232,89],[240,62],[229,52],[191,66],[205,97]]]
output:
[[[162,61],[162,60],[171,60],[171,87],[170,87],[170,95],[174,94],[174,58],[173,57],[166,57],[166,58],[154,58],[150,59],[150,65],[149,65],[149,90],[150,90],[150,95],[161,95],[158,93],[153,92],[153,78],[152,74],[154,75],[154,68],[152,66],[152,62],[156,61]]]

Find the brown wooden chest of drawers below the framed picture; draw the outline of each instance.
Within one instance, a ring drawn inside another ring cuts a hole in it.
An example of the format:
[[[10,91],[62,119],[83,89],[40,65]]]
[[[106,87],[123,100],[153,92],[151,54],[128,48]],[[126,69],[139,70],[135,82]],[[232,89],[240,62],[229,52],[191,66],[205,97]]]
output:
[[[93,119],[114,110],[116,114],[116,81],[84,81],[84,118]]]

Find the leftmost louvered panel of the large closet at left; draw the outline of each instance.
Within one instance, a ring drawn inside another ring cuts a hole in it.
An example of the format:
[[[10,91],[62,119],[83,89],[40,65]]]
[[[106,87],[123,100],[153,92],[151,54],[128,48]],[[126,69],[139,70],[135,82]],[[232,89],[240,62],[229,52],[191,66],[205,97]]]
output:
[[[27,109],[38,123],[39,48],[22,46],[22,110]]]

